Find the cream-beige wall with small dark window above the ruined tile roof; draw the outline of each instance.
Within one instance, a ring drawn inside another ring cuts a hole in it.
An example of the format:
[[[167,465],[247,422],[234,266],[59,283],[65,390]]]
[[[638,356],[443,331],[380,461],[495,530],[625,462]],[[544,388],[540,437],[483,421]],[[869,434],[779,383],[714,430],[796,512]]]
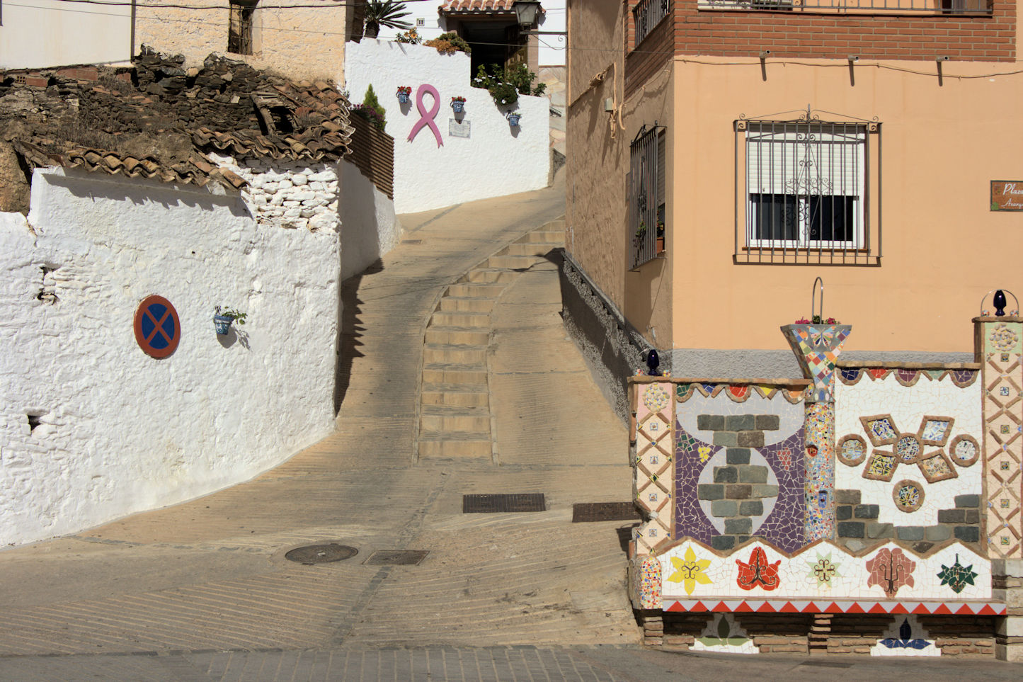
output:
[[[217,9],[181,9],[140,4],[135,22],[135,49],[149,45],[167,54],[183,53],[185,65],[201,65],[220,52],[294,79],[344,81],[346,4],[311,7],[308,0],[273,0],[253,13],[254,52],[227,52],[227,0],[193,0],[189,5]],[[301,5],[290,8],[280,5]]]

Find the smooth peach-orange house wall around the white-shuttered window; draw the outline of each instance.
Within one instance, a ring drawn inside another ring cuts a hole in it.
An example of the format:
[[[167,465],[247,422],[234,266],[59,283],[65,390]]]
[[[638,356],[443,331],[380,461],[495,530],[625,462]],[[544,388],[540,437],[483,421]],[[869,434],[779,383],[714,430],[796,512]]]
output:
[[[852,85],[834,60],[768,60],[766,80],[757,59],[699,60],[747,63],[675,60],[674,347],[786,348],[777,328],[809,314],[818,274],[825,314],[853,326],[846,351],[970,351],[981,295],[1023,295],[1023,213],[988,210],[990,180],[1023,179],[1023,74],[949,61],[939,85],[934,61],[860,61]],[[880,267],[732,263],[732,122],[807,102],[883,124]]]

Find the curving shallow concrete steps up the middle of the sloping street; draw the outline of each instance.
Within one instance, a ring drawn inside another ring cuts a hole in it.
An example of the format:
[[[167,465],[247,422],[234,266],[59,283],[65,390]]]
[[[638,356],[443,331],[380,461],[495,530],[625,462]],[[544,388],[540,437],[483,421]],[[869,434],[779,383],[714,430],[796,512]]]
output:
[[[524,235],[450,285],[427,325],[418,459],[486,459],[493,447],[488,353],[490,315],[507,286],[565,245],[565,221]]]

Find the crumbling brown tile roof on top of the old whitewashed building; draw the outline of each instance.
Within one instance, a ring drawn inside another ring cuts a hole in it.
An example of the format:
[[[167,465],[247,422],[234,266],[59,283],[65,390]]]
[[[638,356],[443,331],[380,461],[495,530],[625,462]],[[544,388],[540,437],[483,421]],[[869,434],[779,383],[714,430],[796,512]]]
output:
[[[316,163],[349,153],[349,102],[329,84],[215,55],[183,63],[143,48],[132,69],[0,72],[0,143],[29,167],[235,188],[244,181],[206,154]]]

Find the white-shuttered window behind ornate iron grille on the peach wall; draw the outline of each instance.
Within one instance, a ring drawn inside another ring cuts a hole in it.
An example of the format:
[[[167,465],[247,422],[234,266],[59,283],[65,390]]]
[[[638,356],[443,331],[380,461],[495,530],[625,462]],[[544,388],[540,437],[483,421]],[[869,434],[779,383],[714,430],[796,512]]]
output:
[[[880,224],[871,219],[872,194],[880,200],[871,188],[879,124],[820,121],[811,111],[796,121],[738,121],[736,146],[738,261],[880,257]]]

